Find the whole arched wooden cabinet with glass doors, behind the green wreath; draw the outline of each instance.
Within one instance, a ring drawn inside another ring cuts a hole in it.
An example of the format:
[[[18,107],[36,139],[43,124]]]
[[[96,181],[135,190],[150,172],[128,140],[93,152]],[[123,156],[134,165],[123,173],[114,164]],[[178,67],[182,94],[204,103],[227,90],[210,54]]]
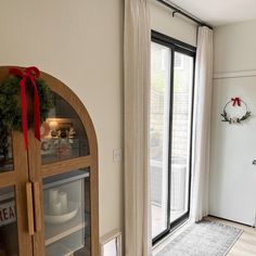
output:
[[[0,81],[9,67],[0,67]],[[41,127],[2,136],[0,256],[98,256],[98,146],[91,118],[60,80],[41,73],[54,107]]]

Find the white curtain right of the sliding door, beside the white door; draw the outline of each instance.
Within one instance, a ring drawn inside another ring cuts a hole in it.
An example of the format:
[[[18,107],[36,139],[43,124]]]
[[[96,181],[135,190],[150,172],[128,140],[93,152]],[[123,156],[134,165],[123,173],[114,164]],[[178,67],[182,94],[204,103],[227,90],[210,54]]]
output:
[[[208,215],[209,142],[213,92],[213,30],[200,27],[195,62],[192,218]]]

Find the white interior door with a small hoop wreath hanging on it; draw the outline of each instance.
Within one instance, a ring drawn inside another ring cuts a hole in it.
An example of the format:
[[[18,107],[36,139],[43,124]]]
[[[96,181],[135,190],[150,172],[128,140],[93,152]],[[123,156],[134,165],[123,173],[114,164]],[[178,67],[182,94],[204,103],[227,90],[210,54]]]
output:
[[[242,124],[221,121],[225,104],[240,97],[252,111]],[[256,77],[215,79],[212,120],[209,214],[255,225]]]

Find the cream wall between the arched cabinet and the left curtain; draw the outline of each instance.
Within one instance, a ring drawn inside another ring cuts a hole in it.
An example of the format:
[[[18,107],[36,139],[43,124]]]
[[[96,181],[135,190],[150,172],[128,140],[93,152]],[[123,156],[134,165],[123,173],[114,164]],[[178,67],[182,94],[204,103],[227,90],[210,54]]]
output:
[[[0,65],[36,65],[84,102],[95,126],[100,233],[123,226],[123,1],[1,1]]]

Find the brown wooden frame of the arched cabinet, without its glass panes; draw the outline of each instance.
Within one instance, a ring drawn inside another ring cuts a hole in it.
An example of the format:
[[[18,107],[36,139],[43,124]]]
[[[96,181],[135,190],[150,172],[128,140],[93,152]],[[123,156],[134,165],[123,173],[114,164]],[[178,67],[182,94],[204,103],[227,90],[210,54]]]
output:
[[[8,66],[0,67],[0,81],[9,76]],[[17,234],[20,256],[44,256],[44,227],[42,209],[42,179],[49,176],[90,167],[90,209],[91,209],[91,255],[99,255],[99,188],[98,188],[98,143],[92,120],[77,95],[59,79],[41,72],[41,78],[53,92],[73,106],[87,132],[90,154],[53,164],[41,164],[40,141],[29,130],[28,151],[24,150],[23,135],[12,132],[14,170],[0,174],[0,188],[15,185]],[[28,232],[28,207],[26,184],[33,190],[34,234]]]

